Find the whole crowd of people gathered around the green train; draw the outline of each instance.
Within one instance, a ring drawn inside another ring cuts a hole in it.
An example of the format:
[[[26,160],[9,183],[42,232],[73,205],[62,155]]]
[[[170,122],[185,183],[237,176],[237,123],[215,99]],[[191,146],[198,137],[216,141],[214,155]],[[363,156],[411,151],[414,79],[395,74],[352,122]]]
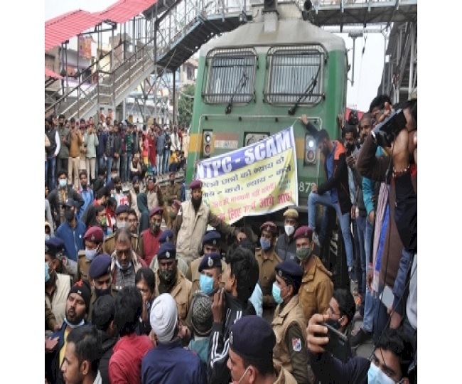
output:
[[[391,148],[377,145],[392,112],[384,95],[340,124],[342,140],[302,115],[326,182],[309,194],[308,223],[284,210],[281,234],[272,221],[256,235],[220,220],[200,180],[190,200],[174,175],[160,186],[163,159],[131,175],[127,192],[127,174],[106,171],[117,156],[76,180],[49,163],[45,382],[417,383],[417,100],[400,108],[407,123]],[[146,140],[161,136],[154,127]],[[328,210],[319,228],[314,220],[320,204],[338,217],[358,303],[318,257],[329,240]],[[370,339],[370,358],[356,356]]]

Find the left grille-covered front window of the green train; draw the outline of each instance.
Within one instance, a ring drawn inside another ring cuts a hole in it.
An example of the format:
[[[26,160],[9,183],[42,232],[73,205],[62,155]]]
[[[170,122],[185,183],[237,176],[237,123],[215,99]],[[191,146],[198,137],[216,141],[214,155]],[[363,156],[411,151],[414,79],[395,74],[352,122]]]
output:
[[[211,50],[206,58],[203,97],[209,104],[247,103],[254,97],[257,53],[248,49]]]

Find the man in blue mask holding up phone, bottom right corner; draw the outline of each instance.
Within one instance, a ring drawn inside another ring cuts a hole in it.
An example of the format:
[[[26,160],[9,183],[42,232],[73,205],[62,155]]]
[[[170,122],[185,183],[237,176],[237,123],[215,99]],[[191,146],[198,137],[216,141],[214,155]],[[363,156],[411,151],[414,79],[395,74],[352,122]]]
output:
[[[370,361],[355,356],[342,363],[325,351],[329,341],[328,329],[323,321],[327,315],[314,314],[308,322],[306,341],[308,357],[316,378],[321,383],[402,383],[408,384],[409,361],[413,350],[400,331],[386,329],[375,345]]]

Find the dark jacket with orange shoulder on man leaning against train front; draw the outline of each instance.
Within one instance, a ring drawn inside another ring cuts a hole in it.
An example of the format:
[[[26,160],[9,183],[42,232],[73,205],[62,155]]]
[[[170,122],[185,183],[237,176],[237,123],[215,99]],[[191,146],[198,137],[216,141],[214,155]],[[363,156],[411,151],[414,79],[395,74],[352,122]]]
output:
[[[350,186],[348,185],[348,166],[346,164],[345,146],[337,140],[334,143],[333,154],[333,173],[331,178],[328,178],[318,186],[318,194],[322,195],[326,191],[331,191],[335,188],[340,203],[342,214],[349,213],[351,210]],[[326,160],[324,160],[324,171],[328,177]]]

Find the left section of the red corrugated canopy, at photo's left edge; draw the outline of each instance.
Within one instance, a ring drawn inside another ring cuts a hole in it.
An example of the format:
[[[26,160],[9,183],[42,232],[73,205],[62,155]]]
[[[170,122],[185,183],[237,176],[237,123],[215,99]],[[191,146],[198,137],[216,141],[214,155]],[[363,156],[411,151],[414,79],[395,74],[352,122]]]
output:
[[[99,14],[77,10],[45,22],[45,52],[102,22]]]

